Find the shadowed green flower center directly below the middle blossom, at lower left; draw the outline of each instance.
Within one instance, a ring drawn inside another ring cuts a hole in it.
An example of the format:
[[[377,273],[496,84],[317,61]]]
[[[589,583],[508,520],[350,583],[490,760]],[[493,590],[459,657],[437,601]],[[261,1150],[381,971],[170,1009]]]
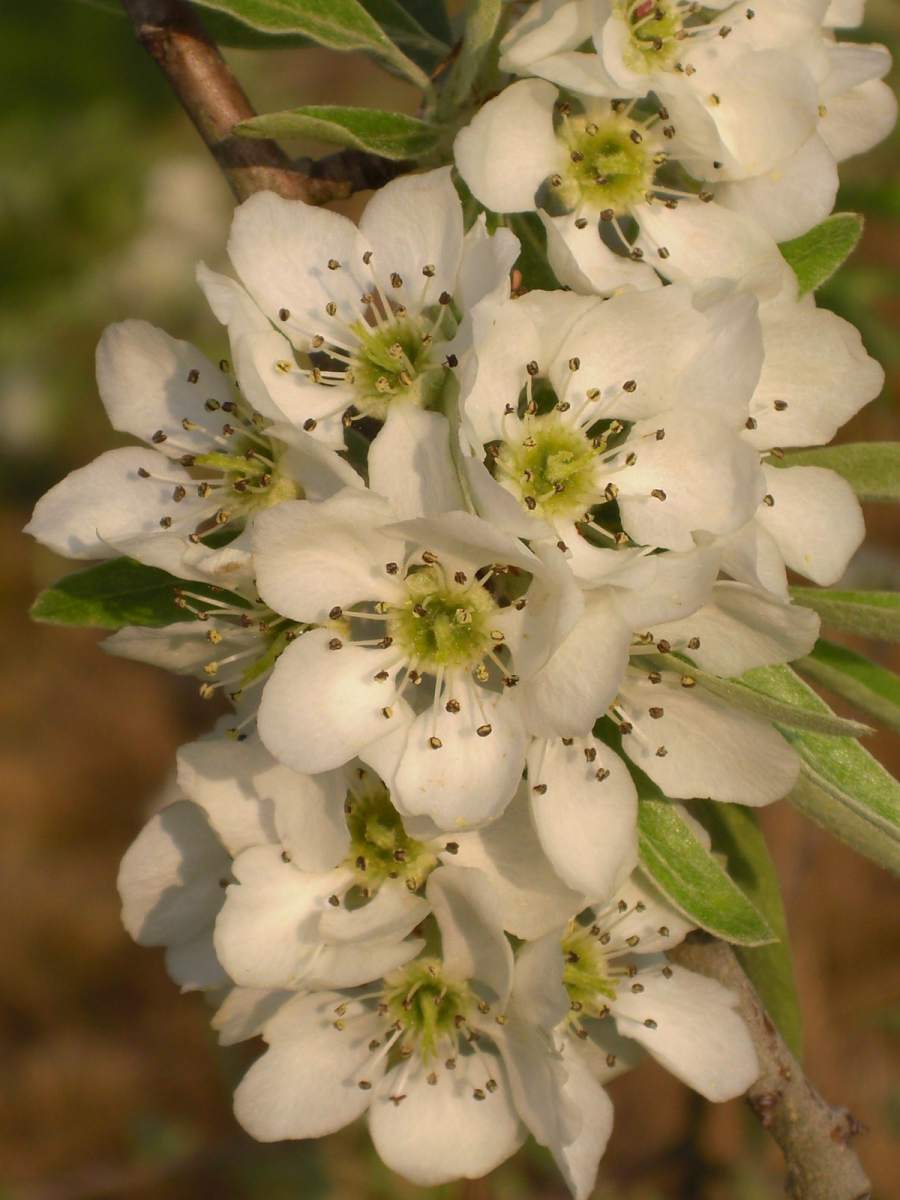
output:
[[[377,892],[386,880],[403,880],[418,892],[438,860],[403,828],[388,788],[370,772],[360,769],[344,803],[350,850],[347,865],[356,872],[358,884]]]

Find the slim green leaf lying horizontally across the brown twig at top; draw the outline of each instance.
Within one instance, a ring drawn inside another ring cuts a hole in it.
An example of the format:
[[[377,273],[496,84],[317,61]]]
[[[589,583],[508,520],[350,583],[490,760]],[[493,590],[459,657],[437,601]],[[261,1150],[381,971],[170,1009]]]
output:
[[[247,138],[316,138],[395,160],[424,157],[434,148],[438,137],[433,125],[415,116],[335,104],[307,104],[283,113],[266,113],[235,125],[234,132]]]

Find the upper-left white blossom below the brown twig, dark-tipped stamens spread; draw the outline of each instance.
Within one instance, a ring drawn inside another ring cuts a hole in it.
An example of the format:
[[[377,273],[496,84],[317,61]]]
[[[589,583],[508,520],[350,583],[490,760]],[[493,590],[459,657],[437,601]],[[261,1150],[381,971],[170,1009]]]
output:
[[[228,250],[241,286],[217,293],[220,319],[235,320],[235,289],[252,298],[270,323],[242,342],[258,379],[295,424],[340,449],[346,414],[385,422],[438,404],[470,310],[509,295],[518,241],[505,229],[488,236],[484,218],[464,233],[440,168],[388,184],[359,227],[259,192],[235,211]]]

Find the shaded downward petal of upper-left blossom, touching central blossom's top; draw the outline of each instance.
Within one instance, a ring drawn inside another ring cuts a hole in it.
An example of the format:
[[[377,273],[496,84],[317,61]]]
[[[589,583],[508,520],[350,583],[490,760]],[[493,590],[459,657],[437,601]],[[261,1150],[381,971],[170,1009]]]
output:
[[[443,413],[391,404],[368,451],[368,485],[401,521],[463,509]]]

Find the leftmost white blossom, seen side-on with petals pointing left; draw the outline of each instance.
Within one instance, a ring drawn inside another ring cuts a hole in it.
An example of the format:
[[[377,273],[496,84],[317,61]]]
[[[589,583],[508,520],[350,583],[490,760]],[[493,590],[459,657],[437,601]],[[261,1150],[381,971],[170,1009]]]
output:
[[[362,486],[260,389],[252,407],[226,360],[216,367],[145,322],[106,330],[97,383],[113,428],[148,445],[107,450],[38,500],[26,530],[70,558],[131,554],[180,577],[234,580],[247,558],[236,535],[259,512]],[[212,534],[233,541],[212,550]]]

